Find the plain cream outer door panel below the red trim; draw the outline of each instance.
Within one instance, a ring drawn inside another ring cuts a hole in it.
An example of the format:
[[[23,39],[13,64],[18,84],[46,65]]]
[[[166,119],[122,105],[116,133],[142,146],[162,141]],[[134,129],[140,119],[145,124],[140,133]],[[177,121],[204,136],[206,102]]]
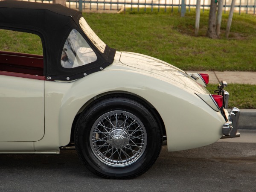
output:
[[[44,81],[0,75],[0,141],[44,137]]]

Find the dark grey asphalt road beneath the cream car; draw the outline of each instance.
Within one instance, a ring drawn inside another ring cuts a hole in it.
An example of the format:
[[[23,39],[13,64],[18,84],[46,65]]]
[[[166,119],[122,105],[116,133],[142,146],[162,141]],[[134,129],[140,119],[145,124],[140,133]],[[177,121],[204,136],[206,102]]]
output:
[[[245,141],[246,135],[256,138],[256,130],[240,132]],[[93,175],[81,164],[76,151],[0,154],[0,191],[256,192],[256,139],[253,141],[222,141],[172,153],[163,146],[154,166],[131,180]]]

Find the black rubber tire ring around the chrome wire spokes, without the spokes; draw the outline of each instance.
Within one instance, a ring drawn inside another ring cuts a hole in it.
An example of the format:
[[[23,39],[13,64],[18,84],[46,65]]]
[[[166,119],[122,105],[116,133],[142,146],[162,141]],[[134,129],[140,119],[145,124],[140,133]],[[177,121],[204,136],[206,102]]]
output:
[[[136,116],[143,123],[147,133],[147,145],[142,156],[128,166],[113,167],[102,163],[90,147],[90,131],[94,122],[105,113],[125,111]],[[133,177],[145,172],[156,160],[161,148],[161,135],[157,121],[148,109],[132,99],[106,99],[84,111],[77,123],[77,142],[83,162],[92,171],[104,177]]]

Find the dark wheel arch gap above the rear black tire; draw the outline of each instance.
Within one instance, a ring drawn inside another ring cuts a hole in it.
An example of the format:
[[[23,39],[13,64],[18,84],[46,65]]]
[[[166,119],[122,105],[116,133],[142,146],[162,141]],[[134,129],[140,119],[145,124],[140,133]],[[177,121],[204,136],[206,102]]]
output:
[[[113,97],[113,96],[122,96],[122,97],[126,97],[126,98],[129,98],[129,99],[134,99],[134,100],[137,100],[138,102],[140,102],[141,104],[143,104],[146,108],[148,108],[151,112],[153,112],[153,114],[155,114],[156,119],[159,121],[159,123],[161,125],[161,132],[162,132],[163,136],[166,136],[166,128],[165,128],[163,119],[160,116],[160,114],[158,113],[157,109],[154,108],[154,106],[150,102],[148,102],[143,97],[138,96],[137,94],[134,94],[134,93],[131,93],[131,92],[127,92],[127,91],[109,91],[109,92],[101,93],[97,96],[94,96],[93,98],[89,99],[86,103],[84,103],[83,106],[81,106],[79,111],[76,113],[76,117],[74,118],[73,123],[72,123],[72,128],[71,128],[71,133],[70,133],[70,143],[73,143],[74,130],[75,130],[75,127],[76,127],[76,122],[79,119],[79,116],[80,116],[81,112],[84,111],[86,108],[88,108],[90,105],[92,105],[94,102],[97,102],[101,99],[110,98],[110,97]],[[166,137],[164,137],[164,140],[166,140]]]

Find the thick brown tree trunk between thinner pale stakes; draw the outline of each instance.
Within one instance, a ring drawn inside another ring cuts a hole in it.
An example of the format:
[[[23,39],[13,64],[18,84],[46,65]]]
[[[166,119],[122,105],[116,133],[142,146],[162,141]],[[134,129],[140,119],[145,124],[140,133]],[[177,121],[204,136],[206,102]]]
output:
[[[215,3],[215,0],[211,0],[208,30],[207,30],[207,37],[209,38],[218,38],[216,34],[216,10],[217,10],[217,3]]]

